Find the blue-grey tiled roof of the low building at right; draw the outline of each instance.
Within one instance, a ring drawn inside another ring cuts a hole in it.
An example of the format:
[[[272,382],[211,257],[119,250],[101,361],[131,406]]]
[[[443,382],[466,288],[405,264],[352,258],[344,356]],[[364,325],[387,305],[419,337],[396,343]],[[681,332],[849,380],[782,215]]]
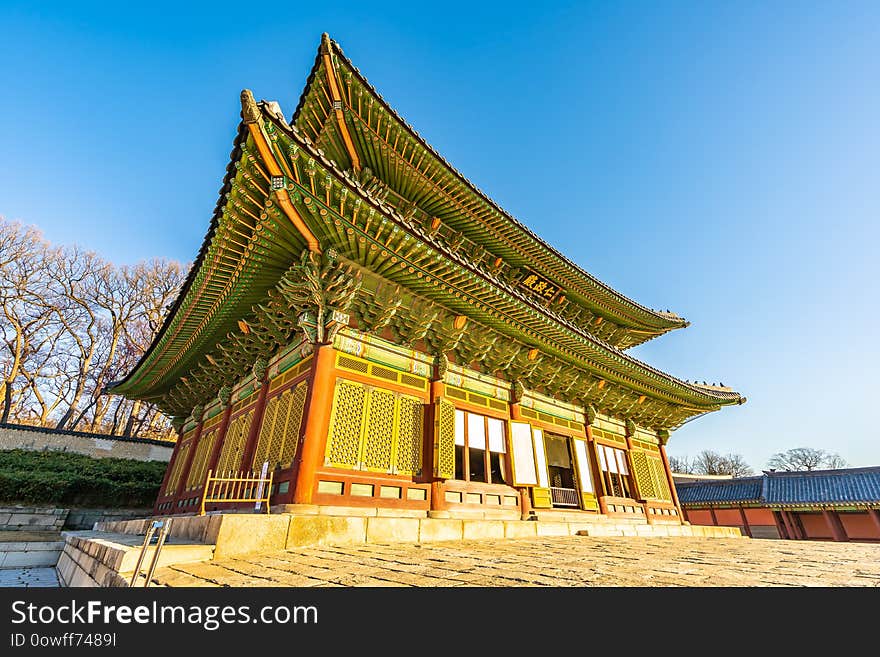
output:
[[[681,503],[764,502],[795,504],[878,504],[880,467],[765,472],[760,477],[694,481],[676,485]]]

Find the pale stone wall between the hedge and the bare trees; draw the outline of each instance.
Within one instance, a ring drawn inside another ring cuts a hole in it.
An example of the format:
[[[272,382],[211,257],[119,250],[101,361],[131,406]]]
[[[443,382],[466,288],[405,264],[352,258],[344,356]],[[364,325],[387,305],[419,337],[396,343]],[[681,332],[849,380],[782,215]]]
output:
[[[0,450],[8,449],[75,452],[92,458],[112,457],[167,463],[171,460],[174,444],[81,431],[55,431],[44,427],[0,424]]]

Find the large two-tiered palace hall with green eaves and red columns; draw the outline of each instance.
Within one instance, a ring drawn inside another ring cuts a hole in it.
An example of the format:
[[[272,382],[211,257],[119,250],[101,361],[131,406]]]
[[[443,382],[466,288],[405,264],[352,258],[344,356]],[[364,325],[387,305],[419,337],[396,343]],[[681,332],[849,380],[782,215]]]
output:
[[[627,353],[684,319],[505,212],[326,35],[289,121],[241,106],[189,277],[112,388],[180,427],[157,513],[268,464],[286,510],[680,522],[670,432],[745,401]]]

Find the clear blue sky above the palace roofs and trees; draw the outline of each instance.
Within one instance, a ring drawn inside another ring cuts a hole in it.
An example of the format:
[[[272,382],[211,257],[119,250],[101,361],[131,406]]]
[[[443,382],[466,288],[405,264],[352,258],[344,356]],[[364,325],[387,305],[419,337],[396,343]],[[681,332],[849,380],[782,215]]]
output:
[[[239,92],[290,116],[326,31],[499,204],[692,322],[632,353],[749,401],[670,454],[880,465],[880,3],[298,5],[4,0],[0,215],[192,260]]]

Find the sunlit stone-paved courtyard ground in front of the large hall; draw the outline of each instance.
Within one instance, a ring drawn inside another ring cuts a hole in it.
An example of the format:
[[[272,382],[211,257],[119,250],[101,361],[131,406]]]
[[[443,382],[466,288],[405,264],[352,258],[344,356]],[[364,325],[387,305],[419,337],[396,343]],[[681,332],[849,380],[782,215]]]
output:
[[[553,537],[315,547],[161,568],[165,586],[875,586],[880,544]]]

